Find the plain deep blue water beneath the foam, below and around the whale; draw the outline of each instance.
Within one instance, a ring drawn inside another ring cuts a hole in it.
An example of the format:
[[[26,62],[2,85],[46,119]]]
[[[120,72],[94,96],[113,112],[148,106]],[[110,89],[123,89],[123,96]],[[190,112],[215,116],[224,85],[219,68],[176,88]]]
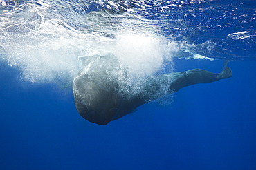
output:
[[[175,71],[223,61],[174,59]],[[30,84],[0,65],[0,169],[256,169],[256,61],[185,87],[106,126],[84,120],[71,89]],[[163,100],[171,100],[165,97]]]

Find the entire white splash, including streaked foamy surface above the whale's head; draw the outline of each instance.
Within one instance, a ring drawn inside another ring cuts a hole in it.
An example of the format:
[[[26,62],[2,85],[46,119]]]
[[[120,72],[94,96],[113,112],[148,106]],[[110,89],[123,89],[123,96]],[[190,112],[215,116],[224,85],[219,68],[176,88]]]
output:
[[[1,14],[0,52],[10,66],[21,70],[24,81],[70,85],[80,59],[107,54],[127,68],[131,82],[164,72],[165,63],[172,72],[179,44],[158,34],[154,21],[136,9],[84,14],[73,10],[79,4],[64,1],[6,3],[11,5],[12,10]]]

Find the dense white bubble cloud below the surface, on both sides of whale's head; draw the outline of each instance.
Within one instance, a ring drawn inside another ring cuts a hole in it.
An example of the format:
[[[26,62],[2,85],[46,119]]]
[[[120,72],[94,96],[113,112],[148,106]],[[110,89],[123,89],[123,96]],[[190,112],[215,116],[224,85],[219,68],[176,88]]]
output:
[[[64,36],[63,31],[42,42],[18,46],[13,43],[8,48],[8,63],[18,66],[23,72],[22,78],[32,83],[51,82],[58,78],[71,81],[80,70],[80,56],[112,53],[131,75],[143,78],[163,70],[164,60],[171,61],[172,52],[177,50],[175,43],[166,43],[161,36],[117,34],[116,39],[109,39],[88,34]]]

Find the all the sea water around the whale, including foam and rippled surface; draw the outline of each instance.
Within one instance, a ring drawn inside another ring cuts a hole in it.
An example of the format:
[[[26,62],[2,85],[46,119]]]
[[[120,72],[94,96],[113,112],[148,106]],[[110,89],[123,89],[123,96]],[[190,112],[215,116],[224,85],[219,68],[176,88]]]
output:
[[[256,169],[255,1],[0,1],[0,169]],[[201,68],[108,125],[84,120],[81,59],[115,54],[131,77]]]

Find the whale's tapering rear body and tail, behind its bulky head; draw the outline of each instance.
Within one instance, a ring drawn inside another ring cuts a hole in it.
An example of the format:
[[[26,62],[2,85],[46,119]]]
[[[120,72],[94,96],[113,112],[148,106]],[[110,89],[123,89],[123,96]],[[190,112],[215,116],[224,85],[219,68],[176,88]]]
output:
[[[136,107],[148,103],[152,100],[164,96],[165,94],[177,92],[183,87],[199,83],[211,83],[232,76],[232,71],[227,67],[228,61],[225,61],[223,70],[219,74],[208,72],[202,69],[192,69],[186,72],[173,72],[150,77],[136,84],[140,89],[132,100],[124,100],[118,114],[112,120],[116,120],[131,113]]]

